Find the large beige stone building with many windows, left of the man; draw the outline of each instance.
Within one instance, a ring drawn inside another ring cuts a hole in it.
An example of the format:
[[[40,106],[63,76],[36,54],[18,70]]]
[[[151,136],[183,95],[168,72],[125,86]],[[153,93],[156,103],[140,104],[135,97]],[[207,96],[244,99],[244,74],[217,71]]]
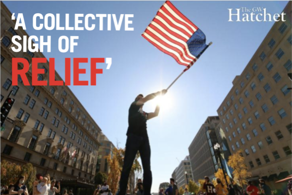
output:
[[[22,28],[14,30],[11,16],[1,2],[1,105],[11,90],[11,98],[16,100],[8,115],[11,120],[6,120],[1,132],[1,160],[31,163],[40,175],[92,187],[101,129],[67,86],[25,86],[21,77],[12,86],[12,58],[29,62],[26,76],[31,84],[32,58],[45,56],[12,51],[14,35],[29,36]],[[22,68],[19,63],[18,69]],[[49,62],[39,63],[38,68],[45,72],[38,80],[49,81]],[[62,80],[56,72],[54,75],[55,80]]]

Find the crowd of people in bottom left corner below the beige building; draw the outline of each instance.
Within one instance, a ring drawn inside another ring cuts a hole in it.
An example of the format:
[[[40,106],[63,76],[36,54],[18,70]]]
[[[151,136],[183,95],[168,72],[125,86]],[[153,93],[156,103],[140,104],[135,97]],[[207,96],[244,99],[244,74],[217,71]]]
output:
[[[60,182],[56,182],[55,179],[52,178],[49,174],[44,177],[40,176],[35,179],[33,182],[33,188],[31,191],[28,191],[27,186],[25,185],[25,177],[20,176],[16,183],[1,186],[1,195],[74,195],[72,190],[64,189],[61,193],[61,185]]]

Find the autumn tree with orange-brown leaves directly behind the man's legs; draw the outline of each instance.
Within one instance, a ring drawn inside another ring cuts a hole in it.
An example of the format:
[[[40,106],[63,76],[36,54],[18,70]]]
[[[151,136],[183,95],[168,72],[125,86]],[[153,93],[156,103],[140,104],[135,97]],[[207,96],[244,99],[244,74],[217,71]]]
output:
[[[108,165],[109,165],[109,173],[108,173],[108,179],[107,183],[112,189],[112,193],[115,194],[118,190],[118,184],[121,177],[121,172],[124,165],[124,157],[125,157],[125,149],[122,148],[114,148],[113,155],[109,154],[108,156],[105,156],[104,158],[107,159]],[[131,168],[131,174],[134,174],[135,172],[141,171],[141,165],[138,161],[138,158],[140,157],[140,154],[137,153],[133,166]],[[129,183],[133,183],[132,177],[129,178]]]

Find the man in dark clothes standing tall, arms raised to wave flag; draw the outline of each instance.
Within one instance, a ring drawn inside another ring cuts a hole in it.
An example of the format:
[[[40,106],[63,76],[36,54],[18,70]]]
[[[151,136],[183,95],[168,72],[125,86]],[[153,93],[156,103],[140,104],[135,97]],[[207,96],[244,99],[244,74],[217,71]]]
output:
[[[164,95],[167,90],[162,90],[156,93],[149,94],[143,97],[139,94],[129,109],[129,127],[127,131],[126,151],[124,165],[120,179],[119,195],[125,195],[129,174],[135,160],[136,154],[139,151],[143,167],[143,194],[151,194],[152,172],[150,166],[151,149],[147,134],[147,120],[158,116],[159,105],[156,106],[155,112],[147,113],[142,110],[144,103],[154,99],[157,95]]]

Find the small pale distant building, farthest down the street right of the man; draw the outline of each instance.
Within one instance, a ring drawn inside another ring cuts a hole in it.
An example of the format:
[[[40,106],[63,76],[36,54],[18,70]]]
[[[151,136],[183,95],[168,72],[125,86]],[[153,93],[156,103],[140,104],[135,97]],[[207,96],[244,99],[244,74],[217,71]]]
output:
[[[175,179],[178,189],[180,187],[185,189],[188,182],[190,180],[194,180],[190,156],[186,156],[186,158],[184,160],[181,160],[178,167],[175,168],[174,172],[175,173],[172,175],[175,178],[173,178],[173,176],[172,176],[172,178]]]

